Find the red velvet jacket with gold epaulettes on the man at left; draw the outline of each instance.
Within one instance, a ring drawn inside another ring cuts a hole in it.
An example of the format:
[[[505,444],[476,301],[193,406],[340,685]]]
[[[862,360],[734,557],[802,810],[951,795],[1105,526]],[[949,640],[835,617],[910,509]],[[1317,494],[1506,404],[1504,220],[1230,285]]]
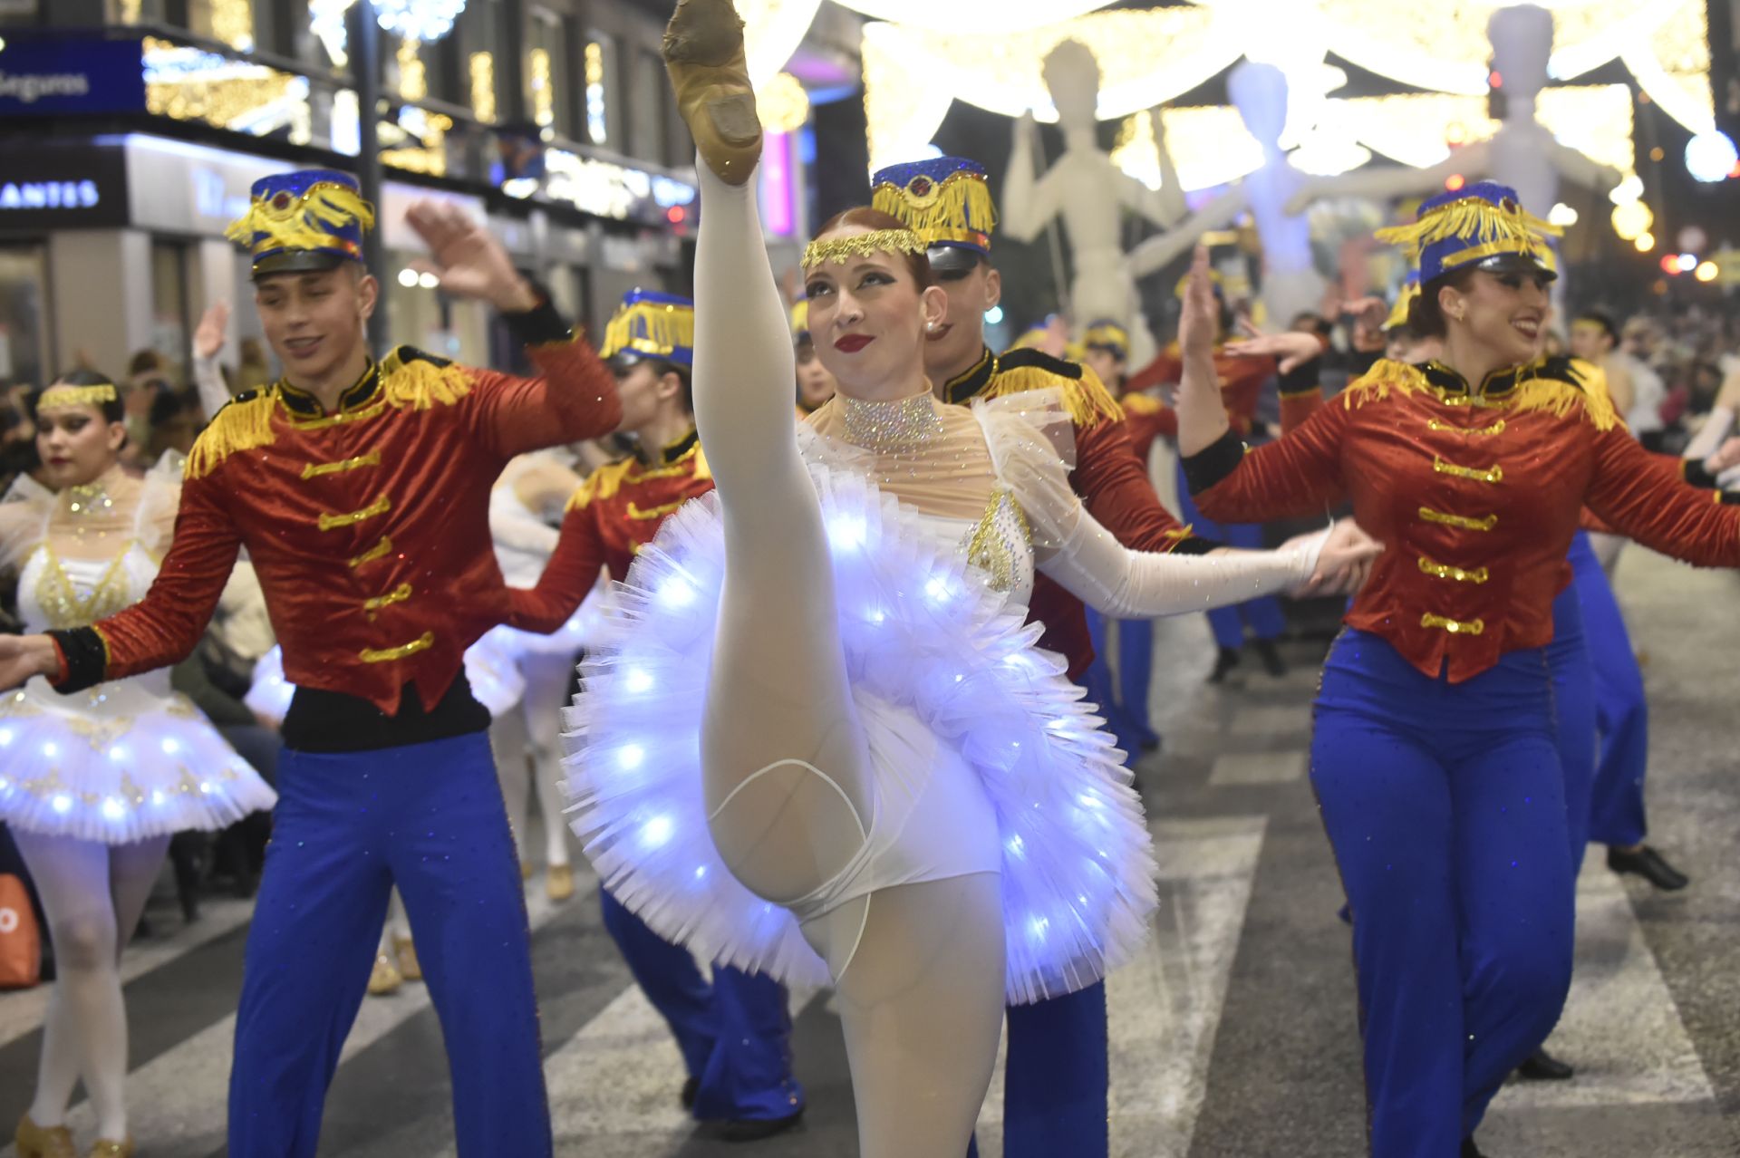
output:
[[[552,318],[519,320],[543,337]],[[59,635],[56,687],[188,656],[245,546],[291,683],[388,716],[412,682],[425,706],[440,701],[465,649],[508,616],[489,537],[501,468],[621,421],[611,372],[559,320],[553,329],[564,341],[529,348],[543,370],[534,379],[402,346],[336,414],[284,383],[226,405],[188,459],[174,544],[150,593]]]

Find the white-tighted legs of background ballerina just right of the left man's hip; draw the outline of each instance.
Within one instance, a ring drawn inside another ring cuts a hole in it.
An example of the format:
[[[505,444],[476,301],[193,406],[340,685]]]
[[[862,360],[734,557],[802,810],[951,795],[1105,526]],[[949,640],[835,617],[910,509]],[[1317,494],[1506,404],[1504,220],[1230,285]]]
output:
[[[513,828],[513,847],[525,864],[525,828],[531,821],[531,793],[538,789],[538,812],[543,814],[545,864],[567,864],[567,824],[562,812],[560,760],[562,760],[562,706],[574,676],[569,656],[543,656],[531,652],[520,659],[525,676],[525,695],[508,715],[489,727],[489,746],[496,753],[496,772],[501,777],[501,800],[508,807],[508,824]]]

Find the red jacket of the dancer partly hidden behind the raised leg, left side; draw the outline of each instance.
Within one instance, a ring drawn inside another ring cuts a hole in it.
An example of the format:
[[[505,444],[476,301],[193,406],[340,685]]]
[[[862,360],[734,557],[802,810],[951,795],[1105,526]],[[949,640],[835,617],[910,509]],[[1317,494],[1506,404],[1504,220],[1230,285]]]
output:
[[[595,469],[569,499],[562,536],[534,589],[513,588],[508,622],[525,631],[555,631],[607,567],[612,579],[628,567],[679,506],[713,489],[713,473],[691,429],[661,447],[656,463],[623,459]]]

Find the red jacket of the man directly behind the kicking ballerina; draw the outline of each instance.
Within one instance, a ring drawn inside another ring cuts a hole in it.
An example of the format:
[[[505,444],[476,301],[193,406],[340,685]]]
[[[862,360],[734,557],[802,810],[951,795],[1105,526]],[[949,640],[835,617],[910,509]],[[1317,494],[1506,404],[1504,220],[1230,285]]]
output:
[[[990,349],[971,370],[943,384],[943,400],[967,403],[1021,389],[1061,389],[1075,417],[1075,473],[1070,483],[1088,513],[1100,520],[1117,541],[1134,551],[1183,551],[1201,555],[1220,546],[1197,539],[1161,506],[1148,482],[1147,461],[1138,461],[1129,445],[1124,412],[1107,393],[1093,370],[1053,358],[1037,349]],[[1041,647],[1060,652],[1068,661],[1070,678],[1093,662],[1093,642],[1082,602],[1046,576],[1037,576],[1028,622],[1041,622],[1046,633]]]

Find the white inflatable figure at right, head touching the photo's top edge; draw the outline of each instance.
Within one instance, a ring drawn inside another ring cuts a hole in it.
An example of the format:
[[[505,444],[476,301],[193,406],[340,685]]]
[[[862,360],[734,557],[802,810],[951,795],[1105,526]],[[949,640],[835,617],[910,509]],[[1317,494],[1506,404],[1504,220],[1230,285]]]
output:
[[[1418,196],[1436,193],[1451,177],[1463,181],[1502,181],[1517,191],[1524,205],[1552,207],[1559,200],[1559,181],[1569,181],[1606,193],[1623,176],[1592,162],[1576,150],[1559,144],[1535,118],[1535,97],[1547,87],[1547,59],[1552,56],[1552,12],[1533,3],[1519,3],[1493,12],[1486,24],[1493,42],[1493,71],[1505,94],[1503,123],[1486,141],[1467,144],[1430,169],[1362,169],[1340,177],[1307,181],[1288,202],[1288,210],[1303,212],[1328,196]],[[1564,285],[1564,278],[1554,283]]]

